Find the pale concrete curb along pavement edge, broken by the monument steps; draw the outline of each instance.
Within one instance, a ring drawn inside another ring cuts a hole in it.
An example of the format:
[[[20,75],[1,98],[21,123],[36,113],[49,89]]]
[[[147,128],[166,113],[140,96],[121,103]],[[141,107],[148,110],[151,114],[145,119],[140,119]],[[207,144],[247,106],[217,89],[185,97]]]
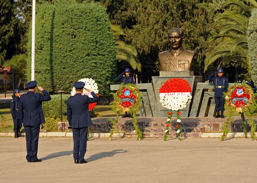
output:
[[[22,133],[25,135],[25,133]],[[90,138],[108,138],[111,133],[90,133]],[[201,138],[215,138],[221,137],[223,133],[202,133]],[[251,133],[247,133],[248,137],[251,137]],[[0,133],[0,137],[14,137],[14,133]],[[39,133],[39,137],[73,137],[71,132],[44,132]],[[112,137],[124,137],[124,133],[113,133]],[[228,133],[227,137],[245,137],[243,132]]]

